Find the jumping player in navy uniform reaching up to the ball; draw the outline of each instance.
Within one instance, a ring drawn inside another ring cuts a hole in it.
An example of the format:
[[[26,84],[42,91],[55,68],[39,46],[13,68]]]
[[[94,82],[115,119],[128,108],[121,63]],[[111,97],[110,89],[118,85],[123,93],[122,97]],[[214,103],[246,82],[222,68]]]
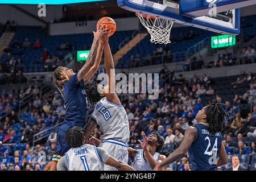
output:
[[[79,73],[75,73],[69,68],[58,67],[52,75],[53,81],[64,99],[66,114],[64,123],[57,133],[57,148],[52,158],[53,162],[50,170],[56,170],[58,160],[70,148],[65,141],[65,131],[72,126],[85,126],[87,96],[84,85],[90,80],[100,65],[103,51],[101,38],[107,33],[108,29],[102,26],[98,26],[97,31],[93,32],[92,48],[86,63]]]

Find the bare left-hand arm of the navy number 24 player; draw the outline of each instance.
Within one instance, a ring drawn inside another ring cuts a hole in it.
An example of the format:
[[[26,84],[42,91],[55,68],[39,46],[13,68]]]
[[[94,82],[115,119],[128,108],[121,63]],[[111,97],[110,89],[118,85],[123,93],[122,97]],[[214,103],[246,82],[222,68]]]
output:
[[[191,144],[196,140],[197,138],[197,129],[195,127],[189,126],[187,130],[185,131],[185,136],[183,141],[180,144],[180,147],[177,148],[174,152],[172,152],[168,158],[163,160],[162,163],[158,164],[154,170],[158,171],[160,168],[163,168],[164,166],[174,163],[177,159],[181,158],[183,155],[186,154]]]

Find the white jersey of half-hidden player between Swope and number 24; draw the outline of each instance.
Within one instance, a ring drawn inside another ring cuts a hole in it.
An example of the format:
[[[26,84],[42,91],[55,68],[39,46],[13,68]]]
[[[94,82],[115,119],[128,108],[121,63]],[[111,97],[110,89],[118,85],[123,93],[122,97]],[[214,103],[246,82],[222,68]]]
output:
[[[134,157],[134,161],[131,164],[131,167],[133,167],[136,171],[152,171],[152,168],[150,167],[149,162],[144,159],[144,150],[138,149],[137,153]],[[153,155],[153,158],[158,161],[159,160],[159,153],[155,152]]]

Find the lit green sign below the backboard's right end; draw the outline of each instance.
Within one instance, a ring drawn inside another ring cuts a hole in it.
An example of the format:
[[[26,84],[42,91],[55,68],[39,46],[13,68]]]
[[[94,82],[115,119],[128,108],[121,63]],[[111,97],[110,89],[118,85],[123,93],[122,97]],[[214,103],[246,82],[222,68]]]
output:
[[[236,44],[236,35],[212,36],[210,46],[212,48],[234,46]]]

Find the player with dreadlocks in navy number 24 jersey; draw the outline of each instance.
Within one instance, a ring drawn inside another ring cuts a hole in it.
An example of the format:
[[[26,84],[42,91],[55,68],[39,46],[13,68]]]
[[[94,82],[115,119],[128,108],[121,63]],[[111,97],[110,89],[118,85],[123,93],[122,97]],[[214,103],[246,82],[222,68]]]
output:
[[[160,170],[175,162],[187,151],[192,171],[217,170],[217,167],[227,164],[228,156],[221,143],[220,133],[226,113],[221,105],[214,100],[212,104],[203,107],[196,115],[198,124],[187,128],[179,148],[160,164],[156,162],[154,169]]]

